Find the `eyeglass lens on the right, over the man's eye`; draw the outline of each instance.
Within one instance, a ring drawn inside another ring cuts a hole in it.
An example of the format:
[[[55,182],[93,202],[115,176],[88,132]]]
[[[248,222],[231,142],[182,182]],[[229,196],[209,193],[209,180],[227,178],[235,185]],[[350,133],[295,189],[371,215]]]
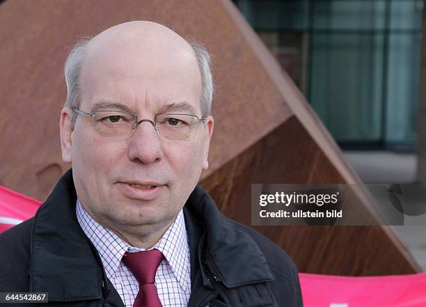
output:
[[[186,114],[164,114],[156,118],[159,135],[169,140],[189,140],[198,129],[198,118]]]

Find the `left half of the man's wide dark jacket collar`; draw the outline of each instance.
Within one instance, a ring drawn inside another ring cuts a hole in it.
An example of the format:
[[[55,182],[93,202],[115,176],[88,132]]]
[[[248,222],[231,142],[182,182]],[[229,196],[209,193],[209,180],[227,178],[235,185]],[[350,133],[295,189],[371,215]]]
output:
[[[100,299],[102,295],[102,262],[79,226],[76,200],[70,170],[34,217],[30,287],[33,292],[48,292],[49,301]]]

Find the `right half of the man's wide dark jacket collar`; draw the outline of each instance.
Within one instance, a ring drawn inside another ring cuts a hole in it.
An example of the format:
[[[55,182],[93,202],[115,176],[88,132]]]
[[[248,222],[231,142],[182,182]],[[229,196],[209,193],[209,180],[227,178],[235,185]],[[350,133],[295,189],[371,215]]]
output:
[[[203,262],[210,264],[209,269],[227,288],[274,280],[258,244],[242,226],[223,216],[201,187],[194,189],[185,207],[205,230],[205,255],[199,257],[200,267]]]

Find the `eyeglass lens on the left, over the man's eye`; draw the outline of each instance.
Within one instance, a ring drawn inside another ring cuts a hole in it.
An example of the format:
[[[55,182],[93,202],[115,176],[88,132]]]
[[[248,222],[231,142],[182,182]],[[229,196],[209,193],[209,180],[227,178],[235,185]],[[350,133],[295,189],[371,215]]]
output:
[[[125,137],[132,133],[136,116],[121,111],[97,111],[93,114],[93,122],[102,136]]]

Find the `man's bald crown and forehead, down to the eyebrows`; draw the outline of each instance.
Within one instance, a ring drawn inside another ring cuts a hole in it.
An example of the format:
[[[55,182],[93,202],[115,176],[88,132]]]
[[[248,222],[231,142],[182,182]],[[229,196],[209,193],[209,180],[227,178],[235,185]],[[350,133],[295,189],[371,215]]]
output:
[[[132,107],[142,102],[157,111],[163,105],[178,109],[177,103],[184,109],[186,101],[192,109],[200,109],[199,97],[192,95],[201,88],[194,49],[177,33],[153,22],[120,24],[90,40],[80,83],[90,107],[111,101]]]

